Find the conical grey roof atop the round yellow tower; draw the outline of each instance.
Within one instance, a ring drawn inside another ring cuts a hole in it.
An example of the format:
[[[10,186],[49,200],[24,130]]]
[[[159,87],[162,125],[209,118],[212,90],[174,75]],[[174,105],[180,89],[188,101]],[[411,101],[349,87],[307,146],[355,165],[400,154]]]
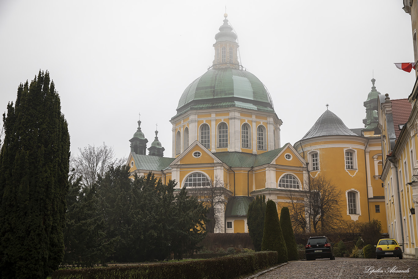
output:
[[[336,116],[331,110],[326,110],[316,120],[311,130],[303,136],[302,140],[307,138],[315,138],[319,136],[358,136],[356,133],[347,128],[342,120]]]

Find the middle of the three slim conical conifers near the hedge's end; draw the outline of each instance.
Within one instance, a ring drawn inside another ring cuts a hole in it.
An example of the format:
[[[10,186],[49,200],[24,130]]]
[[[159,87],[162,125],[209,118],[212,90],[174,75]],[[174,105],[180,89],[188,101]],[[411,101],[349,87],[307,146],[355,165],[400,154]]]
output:
[[[265,206],[264,233],[261,250],[277,251],[278,263],[288,261],[287,247],[280,227],[277,206],[273,200],[268,200]]]

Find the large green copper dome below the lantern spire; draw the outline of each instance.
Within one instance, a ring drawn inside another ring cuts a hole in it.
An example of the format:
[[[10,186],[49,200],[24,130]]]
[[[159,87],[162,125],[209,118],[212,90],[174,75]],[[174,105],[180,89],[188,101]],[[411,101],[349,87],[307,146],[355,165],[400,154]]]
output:
[[[250,72],[234,68],[209,69],[192,82],[177,106],[178,115],[188,110],[240,107],[274,113],[264,84]]]

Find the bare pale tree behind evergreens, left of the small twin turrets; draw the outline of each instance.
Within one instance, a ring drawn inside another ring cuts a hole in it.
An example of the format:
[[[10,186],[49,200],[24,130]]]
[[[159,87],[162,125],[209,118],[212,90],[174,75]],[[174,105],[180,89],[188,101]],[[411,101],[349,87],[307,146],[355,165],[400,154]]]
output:
[[[82,177],[84,187],[91,187],[97,180],[97,175],[103,176],[109,166],[120,166],[126,163],[126,158],[115,158],[112,146],[105,143],[101,146],[94,145],[79,149],[77,156],[70,158],[70,172],[75,179]]]

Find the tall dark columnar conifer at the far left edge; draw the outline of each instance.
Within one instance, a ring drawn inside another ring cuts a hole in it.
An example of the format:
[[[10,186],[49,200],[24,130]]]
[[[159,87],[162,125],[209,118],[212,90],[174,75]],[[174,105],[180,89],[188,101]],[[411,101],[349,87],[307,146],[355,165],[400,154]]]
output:
[[[39,71],[3,114],[0,274],[46,278],[64,255],[69,134],[54,82]]]

